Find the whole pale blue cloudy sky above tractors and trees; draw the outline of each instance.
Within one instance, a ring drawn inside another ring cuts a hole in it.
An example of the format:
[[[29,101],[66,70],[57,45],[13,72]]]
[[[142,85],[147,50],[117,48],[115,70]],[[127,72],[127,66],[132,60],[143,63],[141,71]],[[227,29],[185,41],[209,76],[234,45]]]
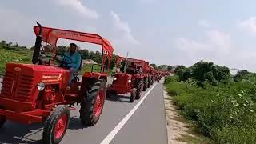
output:
[[[157,65],[191,66],[204,60],[256,72],[255,6],[254,0],[8,0],[0,5],[0,39],[33,46],[38,21],[101,34],[114,54],[128,52]]]

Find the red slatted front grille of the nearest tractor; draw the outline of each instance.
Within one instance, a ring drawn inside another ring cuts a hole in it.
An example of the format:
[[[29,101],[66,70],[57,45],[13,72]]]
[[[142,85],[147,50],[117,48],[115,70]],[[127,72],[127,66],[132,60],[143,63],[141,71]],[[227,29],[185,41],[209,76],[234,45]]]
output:
[[[30,98],[33,90],[33,76],[6,71],[1,94],[4,97]]]

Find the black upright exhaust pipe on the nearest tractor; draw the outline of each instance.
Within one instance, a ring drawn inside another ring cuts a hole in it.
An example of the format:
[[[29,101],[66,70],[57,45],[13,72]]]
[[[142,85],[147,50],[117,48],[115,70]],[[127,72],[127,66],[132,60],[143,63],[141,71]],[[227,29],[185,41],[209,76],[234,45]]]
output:
[[[37,38],[35,40],[34,44],[34,52],[33,52],[33,58],[32,58],[32,63],[36,64],[38,62],[38,56],[40,54],[40,48],[41,48],[41,42],[42,42],[42,26],[40,23],[38,23],[39,26],[39,33],[37,35]]]

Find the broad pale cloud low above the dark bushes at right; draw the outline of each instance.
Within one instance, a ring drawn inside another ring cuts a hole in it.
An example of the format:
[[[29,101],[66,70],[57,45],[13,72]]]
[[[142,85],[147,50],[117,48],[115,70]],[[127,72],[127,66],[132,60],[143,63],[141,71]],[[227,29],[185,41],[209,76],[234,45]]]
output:
[[[200,60],[231,66],[232,61],[230,59],[234,60],[235,55],[238,54],[234,54],[234,46],[230,34],[220,30],[206,30],[205,38],[202,41],[178,38],[174,41],[174,47],[178,48],[183,58],[186,58],[184,64],[187,66]]]

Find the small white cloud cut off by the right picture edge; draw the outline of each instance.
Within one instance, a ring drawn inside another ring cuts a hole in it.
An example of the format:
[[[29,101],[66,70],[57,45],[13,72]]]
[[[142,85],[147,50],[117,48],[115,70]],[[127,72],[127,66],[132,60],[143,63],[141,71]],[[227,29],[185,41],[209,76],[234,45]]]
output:
[[[238,26],[250,32],[250,34],[256,35],[256,17],[250,17],[242,22],[238,22]]]

